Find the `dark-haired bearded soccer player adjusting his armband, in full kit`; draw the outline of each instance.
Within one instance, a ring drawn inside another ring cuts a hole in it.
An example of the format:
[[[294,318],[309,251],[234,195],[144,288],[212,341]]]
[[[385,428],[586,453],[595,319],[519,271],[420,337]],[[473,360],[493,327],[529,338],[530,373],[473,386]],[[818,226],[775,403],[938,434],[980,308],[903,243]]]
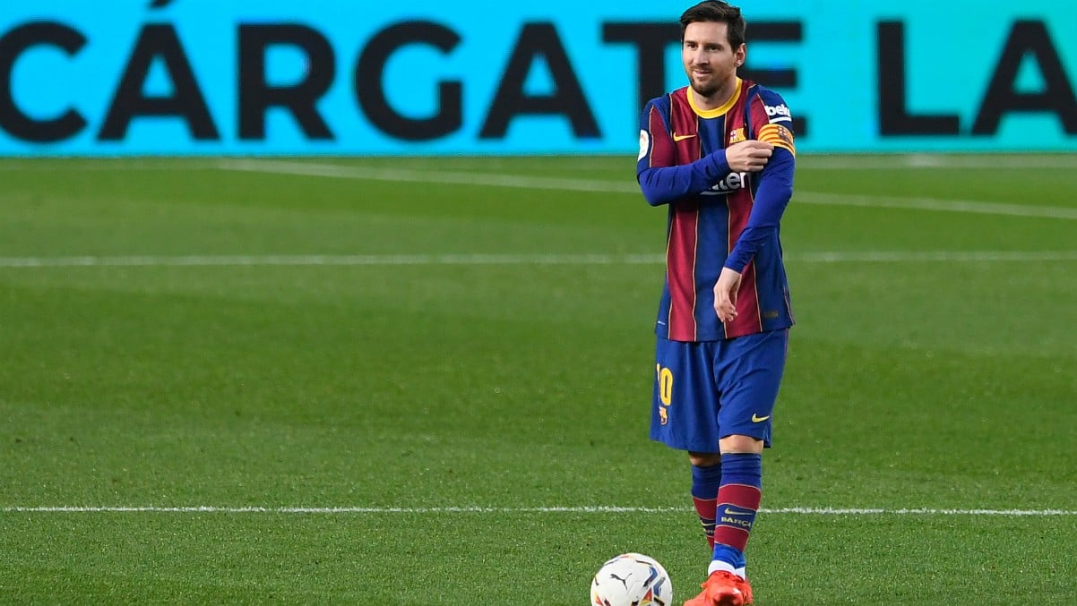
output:
[[[685,606],[739,606],[752,603],[744,548],[793,325],[779,241],[793,118],[777,93],[737,75],[740,9],[700,2],[681,26],[688,86],[651,100],[640,121],[640,187],[669,208],[651,437],[687,451],[712,547],[703,591]]]

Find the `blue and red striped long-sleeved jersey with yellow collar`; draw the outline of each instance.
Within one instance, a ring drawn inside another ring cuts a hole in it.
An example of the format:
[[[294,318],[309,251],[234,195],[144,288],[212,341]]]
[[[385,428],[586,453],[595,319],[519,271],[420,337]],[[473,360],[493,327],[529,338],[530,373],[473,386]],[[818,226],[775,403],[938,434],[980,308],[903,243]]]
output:
[[[792,122],[780,95],[740,79],[714,110],[694,107],[687,87],[644,108],[637,177],[648,203],[669,205],[659,336],[713,341],[793,325],[779,239],[793,194]],[[773,155],[761,172],[732,172],[725,149],[747,139],[772,143]],[[723,267],[742,274],[728,324],[714,311]]]

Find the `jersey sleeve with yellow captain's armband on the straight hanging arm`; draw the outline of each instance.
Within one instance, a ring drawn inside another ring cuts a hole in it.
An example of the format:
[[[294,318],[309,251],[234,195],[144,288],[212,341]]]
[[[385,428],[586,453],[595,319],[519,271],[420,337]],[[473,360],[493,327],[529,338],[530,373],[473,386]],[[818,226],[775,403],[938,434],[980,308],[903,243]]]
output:
[[[761,88],[749,105],[749,119],[755,138],[774,146],[770,161],[759,173],[759,187],[747,219],[747,225],[726,257],[725,266],[743,272],[761,246],[777,242],[782,214],[793,197],[793,174],[796,168],[796,145],[793,138],[793,115],[777,93]]]

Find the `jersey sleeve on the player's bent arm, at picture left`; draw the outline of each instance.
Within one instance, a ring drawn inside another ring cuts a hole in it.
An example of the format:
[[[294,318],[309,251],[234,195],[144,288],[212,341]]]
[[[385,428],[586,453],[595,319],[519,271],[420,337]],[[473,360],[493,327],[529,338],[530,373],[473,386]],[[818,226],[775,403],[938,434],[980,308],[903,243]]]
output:
[[[669,98],[653,99],[640,116],[640,156],[635,178],[647,203],[656,207],[710,189],[729,174],[726,151],[676,165],[669,126]]]

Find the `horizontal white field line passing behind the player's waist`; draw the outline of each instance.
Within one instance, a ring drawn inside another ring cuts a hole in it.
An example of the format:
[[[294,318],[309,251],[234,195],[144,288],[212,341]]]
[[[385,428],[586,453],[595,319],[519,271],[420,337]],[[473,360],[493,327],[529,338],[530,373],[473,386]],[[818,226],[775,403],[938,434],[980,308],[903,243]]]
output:
[[[1077,251],[865,251],[786,255],[791,263],[1046,263],[1077,260]],[[457,255],[183,255],[0,257],[0,268],[48,267],[298,267],[438,265],[659,265],[657,254]]]

